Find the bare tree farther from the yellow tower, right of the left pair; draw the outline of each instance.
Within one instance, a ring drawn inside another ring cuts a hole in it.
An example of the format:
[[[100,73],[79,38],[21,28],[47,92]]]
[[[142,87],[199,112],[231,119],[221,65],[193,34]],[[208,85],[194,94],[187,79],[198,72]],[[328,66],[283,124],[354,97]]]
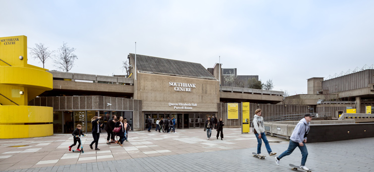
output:
[[[78,57],[73,53],[75,48],[67,46],[66,42],[63,42],[62,46],[57,49],[54,63],[58,69],[69,72],[74,66],[75,59]]]

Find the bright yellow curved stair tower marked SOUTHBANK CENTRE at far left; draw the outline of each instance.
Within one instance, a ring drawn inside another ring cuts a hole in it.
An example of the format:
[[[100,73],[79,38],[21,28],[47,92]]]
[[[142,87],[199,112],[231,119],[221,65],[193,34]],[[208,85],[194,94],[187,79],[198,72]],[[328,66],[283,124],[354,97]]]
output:
[[[0,138],[53,135],[53,108],[28,106],[53,89],[53,76],[27,64],[27,37],[0,37]]]

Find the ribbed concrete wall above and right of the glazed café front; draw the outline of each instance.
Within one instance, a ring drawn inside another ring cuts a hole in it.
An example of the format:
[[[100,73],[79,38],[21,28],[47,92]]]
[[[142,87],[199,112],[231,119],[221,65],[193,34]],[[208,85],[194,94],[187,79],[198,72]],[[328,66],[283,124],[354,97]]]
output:
[[[110,103],[111,105],[108,105]],[[134,130],[144,129],[142,101],[106,96],[38,97],[29,105],[50,106],[53,110],[128,110],[133,111]]]

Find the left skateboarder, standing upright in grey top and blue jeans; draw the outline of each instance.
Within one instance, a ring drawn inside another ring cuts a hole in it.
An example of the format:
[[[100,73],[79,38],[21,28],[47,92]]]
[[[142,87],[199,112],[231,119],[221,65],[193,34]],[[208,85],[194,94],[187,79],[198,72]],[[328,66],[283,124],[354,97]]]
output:
[[[267,153],[270,156],[275,155],[276,153],[271,151],[269,141],[267,141],[267,138],[266,138],[264,118],[262,117],[262,110],[257,109],[255,111],[255,114],[256,115],[254,116],[254,119],[253,119],[253,127],[254,127],[254,133],[255,133],[256,138],[257,138],[257,155],[262,156],[261,155],[261,145],[262,145],[263,141],[261,140],[261,138],[264,140],[265,147],[267,149]]]

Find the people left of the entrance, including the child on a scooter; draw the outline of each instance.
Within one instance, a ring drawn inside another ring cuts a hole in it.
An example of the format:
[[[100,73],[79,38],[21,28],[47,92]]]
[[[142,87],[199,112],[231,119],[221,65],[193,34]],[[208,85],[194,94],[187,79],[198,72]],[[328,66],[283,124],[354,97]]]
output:
[[[100,150],[98,148],[100,133],[101,133],[101,127],[103,127],[103,124],[99,121],[99,119],[102,118],[101,116],[94,116],[91,119],[92,123],[92,137],[94,138],[94,141],[91,142],[90,148],[93,148],[93,145],[95,143],[95,150]],[[117,129],[116,129],[117,128]],[[120,146],[123,146],[123,141],[127,140],[128,138],[128,132],[131,130],[130,125],[127,123],[127,119],[123,118],[122,116],[117,119],[116,115],[113,115],[110,120],[107,121],[107,124],[104,127],[104,130],[107,132],[107,144],[111,143],[118,143]],[[75,146],[78,142],[78,148],[77,151],[80,151],[80,145],[81,145],[81,136],[85,136],[82,132],[82,126],[80,124],[77,125],[77,128],[72,133],[74,143],[69,146],[69,151],[71,151],[71,148]],[[119,137],[117,141],[115,141],[115,136]],[[110,141],[109,141],[110,139]]]

